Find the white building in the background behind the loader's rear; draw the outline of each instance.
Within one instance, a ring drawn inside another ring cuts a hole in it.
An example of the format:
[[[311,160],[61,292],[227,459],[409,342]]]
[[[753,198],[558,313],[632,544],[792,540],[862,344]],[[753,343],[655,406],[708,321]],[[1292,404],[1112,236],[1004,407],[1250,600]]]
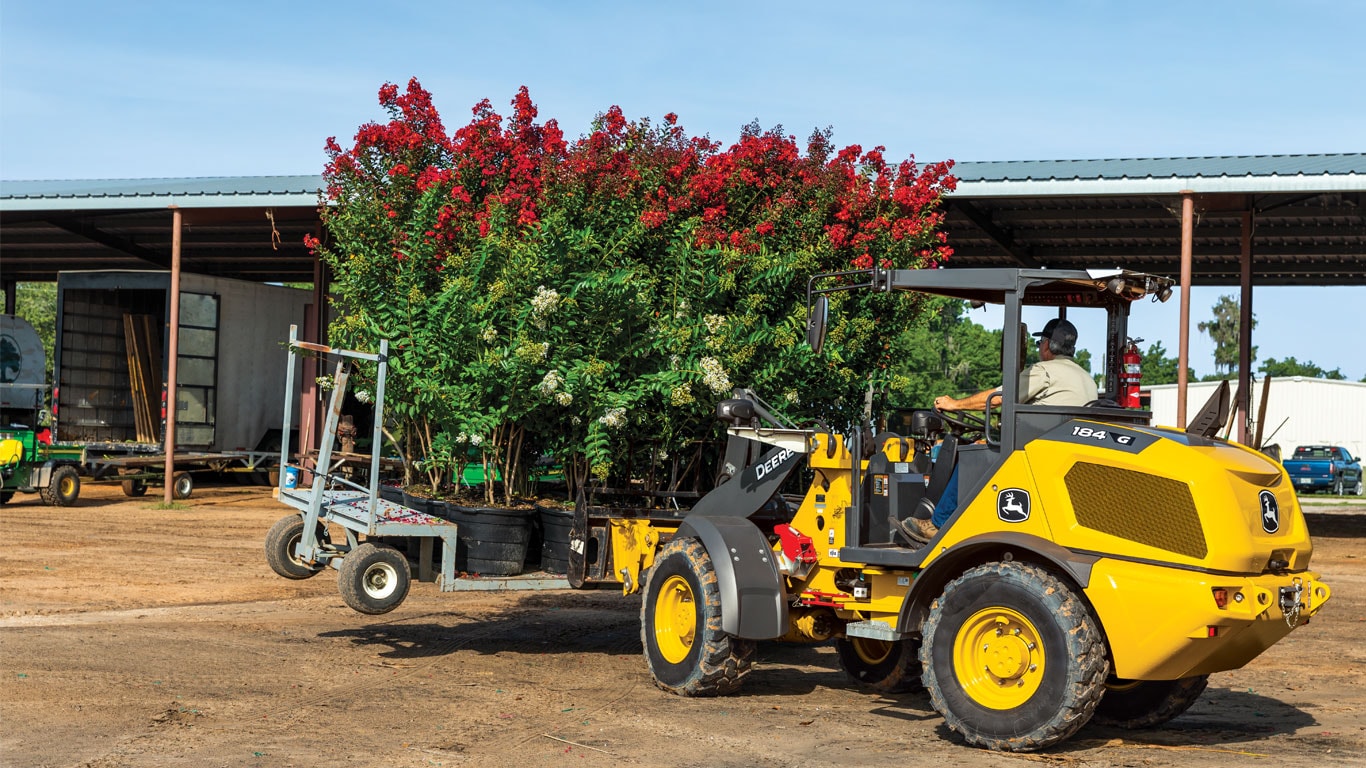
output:
[[[1190,383],[1186,394],[1186,418],[1195,415],[1205,400],[1218,387],[1218,381]],[[1238,381],[1229,387],[1238,388]],[[1184,426],[1176,424],[1176,384],[1147,387],[1153,395],[1153,424]],[[1232,392],[1229,392],[1232,398]],[[1250,439],[1257,435],[1257,414],[1262,402],[1262,380],[1253,384],[1250,400],[1253,426]],[[1220,432],[1223,435],[1224,432]],[[1238,439],[1238,425],[1229,432]],[[1296,445],[1341,445],[1354,456],[1366,454],[1366,384],[1359,381],[1333,381],[1329,379],[1272,377],[1266,400],[1266,418],[1262,424],[1262,443],[1277,444],[1281,455],[1291,455]]]

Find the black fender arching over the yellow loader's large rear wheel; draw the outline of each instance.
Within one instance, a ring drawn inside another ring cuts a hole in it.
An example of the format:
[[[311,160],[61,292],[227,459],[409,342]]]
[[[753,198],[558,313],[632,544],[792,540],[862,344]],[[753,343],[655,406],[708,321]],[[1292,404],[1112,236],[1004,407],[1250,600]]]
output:
[[[963,571],[981,563],[1012,559],[1042,562],[1065,574],[1085,590],[1091,582],[1091,566],[1101,556],[1074,552],[1048,538],[1026,533],[997,532],[964,538],[915,577],[906,600],[902,601],[902,614],[896,619],[897,631],[918,633],[929,616],[930,604],[944,590],[944,585]]]

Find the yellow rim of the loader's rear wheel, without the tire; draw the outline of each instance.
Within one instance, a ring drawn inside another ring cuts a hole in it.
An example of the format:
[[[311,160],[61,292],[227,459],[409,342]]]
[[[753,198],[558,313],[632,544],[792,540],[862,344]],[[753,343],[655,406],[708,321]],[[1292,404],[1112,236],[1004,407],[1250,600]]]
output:
[[[1044,681],[1038,630],[1009,608],[978,611],[953,638],[953,670],[963,691],[982,707],[1020,707]]]

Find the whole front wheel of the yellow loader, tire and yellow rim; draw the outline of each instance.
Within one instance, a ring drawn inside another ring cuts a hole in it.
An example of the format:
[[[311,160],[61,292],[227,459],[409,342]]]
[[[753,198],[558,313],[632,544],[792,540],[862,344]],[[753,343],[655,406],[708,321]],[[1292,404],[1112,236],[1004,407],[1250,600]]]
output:
[[[645,579],[641,644],[654,685],[680,696],[735,693],[754,661],[754,641],[721,630],[716,568],[697,538],[675,538]]]

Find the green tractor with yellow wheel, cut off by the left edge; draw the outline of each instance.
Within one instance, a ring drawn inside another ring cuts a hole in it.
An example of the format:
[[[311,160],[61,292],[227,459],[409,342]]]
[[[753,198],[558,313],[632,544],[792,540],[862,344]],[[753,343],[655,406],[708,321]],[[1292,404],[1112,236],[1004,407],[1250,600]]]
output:
[[[81,448],[51,445],[41,421],[46,409],[46,355],[22,317],[0,314],[0,504],[15,493],[38,493],[56,507],[81,496]]]

